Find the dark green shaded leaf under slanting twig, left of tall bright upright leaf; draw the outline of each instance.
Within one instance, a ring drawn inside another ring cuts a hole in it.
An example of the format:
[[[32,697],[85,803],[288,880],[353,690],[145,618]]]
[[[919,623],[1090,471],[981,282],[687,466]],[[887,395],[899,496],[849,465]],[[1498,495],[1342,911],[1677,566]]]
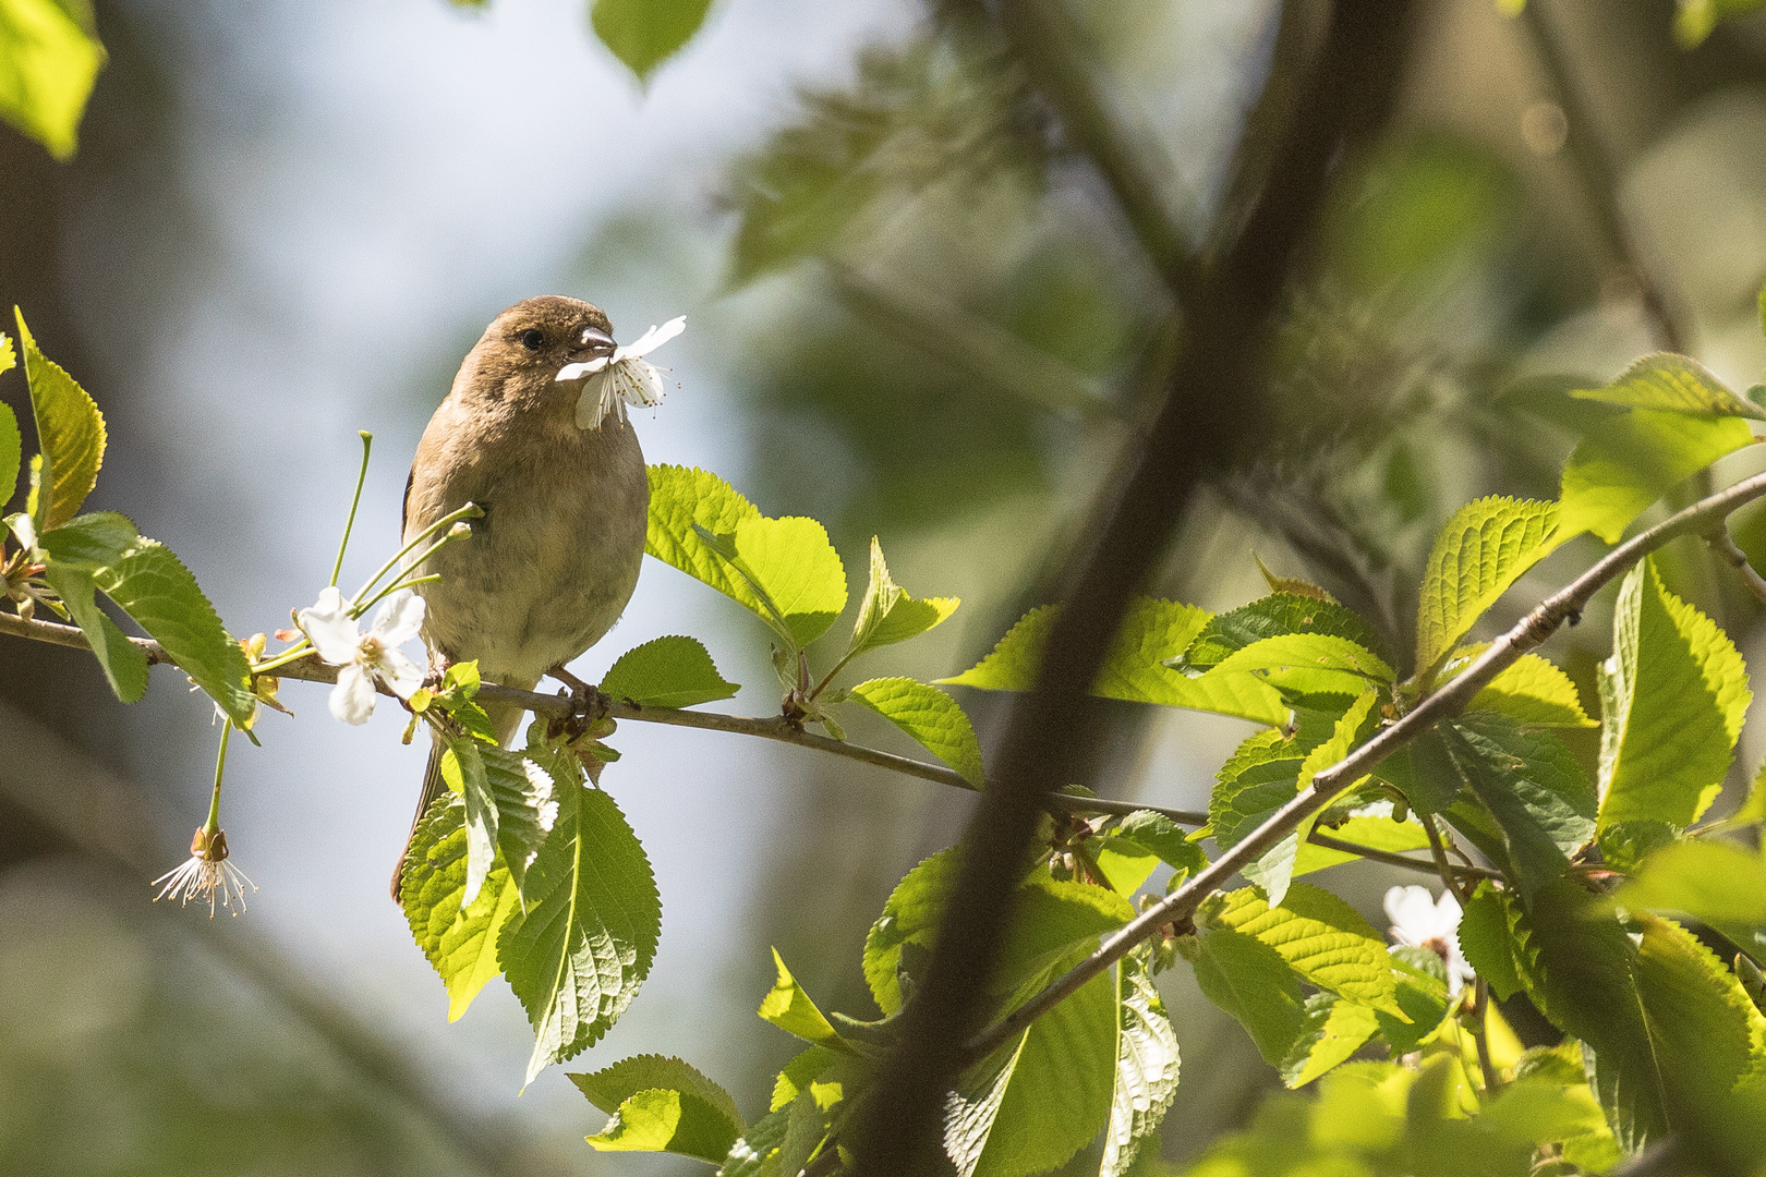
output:
[[[1521,895],[1563,875],[1570,854],[1595,836],[1595,794],[1575,753],[1506,715],[1462,715],[1436,731],[1460,780],[1496,819],[1503,845],[1492,858],[1510,865]]]

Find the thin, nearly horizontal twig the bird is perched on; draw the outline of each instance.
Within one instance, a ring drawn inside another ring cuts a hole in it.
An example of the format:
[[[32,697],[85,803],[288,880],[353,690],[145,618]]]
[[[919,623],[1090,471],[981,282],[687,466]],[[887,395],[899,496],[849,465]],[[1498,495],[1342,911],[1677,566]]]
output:
[[[37,642],[49,642],[51,646],[92,649],[87,635],[72,625],[25,619],[7,612],[0,612],[0,633],[26,637]],[[148,637],[131,637],[129,641],[134,642],[143,655],[147,655],[148,665],[177,665],[171,655],[168,655],[159,642]],[[291,678],[304,683],[336,683],[337,667],[325,665],[318,660],[318,656],[307,655],[297,662],[277,667],[274,678]],[[381,695],[396,697],[385,683],[376,681],[374,688]],[[525,711],[560,720],[569,718],[574,706],[570,697],[562,692],[547,695],[537,690],[517,690],[514,686],[500,686],[496,683],[484,683],[479,686],[477,697],[486,702],[514,704]],[[788,743],[798,748],[814,748],[816,752],[826,752],[828,755],[858,761],[862,764],[874,764],[876,768],[887,768],[906,776],[918,776],[920,780],[932,780],[941,785],[975,792],[975,785],[966,776],[945,768],[943,764],[929,764],[925,761],[915,761],[913,757],[895,755],[894,752],[881,752],[878,748],[867,748],[844,739],[832,739],[828,736],[805,732],[782,715],[752,718],[742,715],[719,715],[715,711],[676,711],[675,708],[645,708],[629,699],[611,699],[608,715],[615,720],[632,720],[636,723],[664,723],[668,727],[696,727],[699,731],[728,732],[733,736],[756,736],[759,739]],[[1058,808],[1063,813],[1136,813],[1150,810],[1153,813],[1162,813],[1181,826],[1208,824],[1208,815],[1194,810],[1174,810],[1160,805],[1141,805],[1137,801],[1116,801],[1113,798],[1051,792],[1047,796],[1047,803],[1051,808]]]

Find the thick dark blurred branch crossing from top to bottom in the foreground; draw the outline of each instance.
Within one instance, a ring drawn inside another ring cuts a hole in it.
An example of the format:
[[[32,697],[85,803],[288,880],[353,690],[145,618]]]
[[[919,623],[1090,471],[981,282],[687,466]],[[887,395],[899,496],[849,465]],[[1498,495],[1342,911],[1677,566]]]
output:
[[[1130,476],[1088,528],[1095,542],[1049,633],[1037,685],[1012,708],[994,759],[996,780],[964,836],[931,965],[902,1013],[897,1048],[855,1112],[851,1143],[862,1173],[901,1177],[943,1163],[938,1122],[945,1092],[973,1061],[964,1043],[985,1013],[1040,798],[1086,776],[1097,731],[1086,685],[1097,676],[1128,598],[1166,551],[1201,478],[1229,466],[1261,424],[1261,356],[1270,319],[1333,162],[1347,139],[1386,115],[1408,7],[1376,0],[1335,7],[1317,67],[1294,104],[1293,122],[1282,127],[1245,231],[1217,266],[1196,274],[1185,263],[1167,272],[1183,291],[1185,330],[1166,404]],[[1031,74],[1045,79],[1042,85],[1084,101],[1095,92],[1088,78],[1070,72],[1079,65],[1063,53],[1067,41],[1051,12],[1047,0],[1005,0],[1001,25]],[[1137,201],[1137,189],[1128,199]],[[1139,224],[1137,203],[1125,205],[1125,212]],[[1171,263],[1158,238],[1146,245],[1155,265]]]

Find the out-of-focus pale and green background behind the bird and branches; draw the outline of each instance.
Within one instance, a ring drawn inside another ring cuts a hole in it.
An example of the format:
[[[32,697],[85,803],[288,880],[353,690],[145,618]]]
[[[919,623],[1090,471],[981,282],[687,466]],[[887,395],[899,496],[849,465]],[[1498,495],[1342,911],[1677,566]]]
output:
[[[0,25],[25,7],[0,0]],[[964,598],[901,672],[955,672],[1047,600],[1181,330],[1072,95],[1038,88],[959,2],[717,0],[682,55],[630,46],[641,90],[572,0],[466,7],[57,7],[108,65],[72,162],[51,157],[71,138],[0,132],[0,295],[109,415],[101,506],[184,552],[237,632],[274,628],[323,575],[351,431],[381,436],[364,526],[390,535],[404,455],[479,325],[555,289],[606,305],[622,337],[689,314],[683,388],[639,422],[652,461],[825,521],[855,588],[881,535],[909,591]],[[595,26],[618,7],[600,0]],[[1566,388],[1664,346],[1759,379],[1766,18],[1718,23],[1731,7],[1422,5],[1399,116],[1342,161],[1287,293],[1261,445],[1196,501],[1153,591],[1238,603],[1259,591],[1256,552],[1404,651],[1441,521],[1480,494],[1556,494]],[[1247,120],[1256,173],[1270,62],[1305,51],[1317,7],[1058,14],[1150,199],[1206,252],[1245,201]],[[1738,531],[1766,563],[1766,510]],[[1489,625],[1593,551],[1568,545]],[[1757,605],[1701,549],[1662,566],[1759,656]],[[756,685],[742,708],[768,711],[758,633],[664,574],[646,568],[585,665],[694,632]],[[1558,646],[1588,701],[1600,609]],[[9,642],[0,667],[0,1170],[472,1173],[507,1145],[507,1172],[685,1172],[592,1154],[600,1121],[562,1075],[510,1099],[519,1011],[445,1025],[383,896],[420,764],[392,720],[369,743],[288,692],[298,732],[242,757],[228,822],[263,895],[210,926],[143,886],[200,817],[200,708],[159,679],[120,713],[87,658],[46,646]],[[998,701],[962,702],[985,736]],[[1189,808],[1241,736],[1128,706],[1111,723],[1111,792]],[[1766,752],[1755,731],[1738,778]],[[897,746],[881,722],[851,734]],[[864,930],[955,838],[964,799],[728,738],[615,743],[606,783],[668,918],[646,992],[585,1062],[682,1053],[758,1112],[791,1052],[751,1016],[766,946],[826,1006],[869,1015]],[[1340,870],[1332,886],[1374,916],[1393,879]],[[1180,1161],[1247,1122],[1275,1075],[1187,971],[1162,983]]]

